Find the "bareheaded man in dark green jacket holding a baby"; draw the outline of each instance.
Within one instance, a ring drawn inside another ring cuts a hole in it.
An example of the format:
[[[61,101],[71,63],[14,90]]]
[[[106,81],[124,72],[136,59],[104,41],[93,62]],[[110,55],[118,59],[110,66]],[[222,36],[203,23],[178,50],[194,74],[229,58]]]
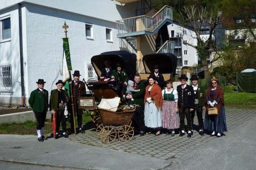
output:
[[[146,127],[144,122],[144,96],[146,90],[146,84],[141,82],[141,76],[139,74],[134,75],[134,89],[140,90],[132,95],[127,95],[127,99],[134,99],[133,103],[137,105],[135,108],[133,122],[135,129],[139,132],[139,135],[143,136],[146,133]]]

